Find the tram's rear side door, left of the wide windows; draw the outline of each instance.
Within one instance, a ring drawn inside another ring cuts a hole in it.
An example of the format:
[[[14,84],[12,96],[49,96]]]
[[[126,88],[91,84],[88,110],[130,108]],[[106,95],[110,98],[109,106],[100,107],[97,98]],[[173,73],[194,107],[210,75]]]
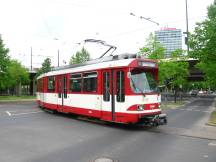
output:
[[[67,102],[67,76],[59,75],[57,77],[58,84],[58,110],[64,111],[64,105]]]

